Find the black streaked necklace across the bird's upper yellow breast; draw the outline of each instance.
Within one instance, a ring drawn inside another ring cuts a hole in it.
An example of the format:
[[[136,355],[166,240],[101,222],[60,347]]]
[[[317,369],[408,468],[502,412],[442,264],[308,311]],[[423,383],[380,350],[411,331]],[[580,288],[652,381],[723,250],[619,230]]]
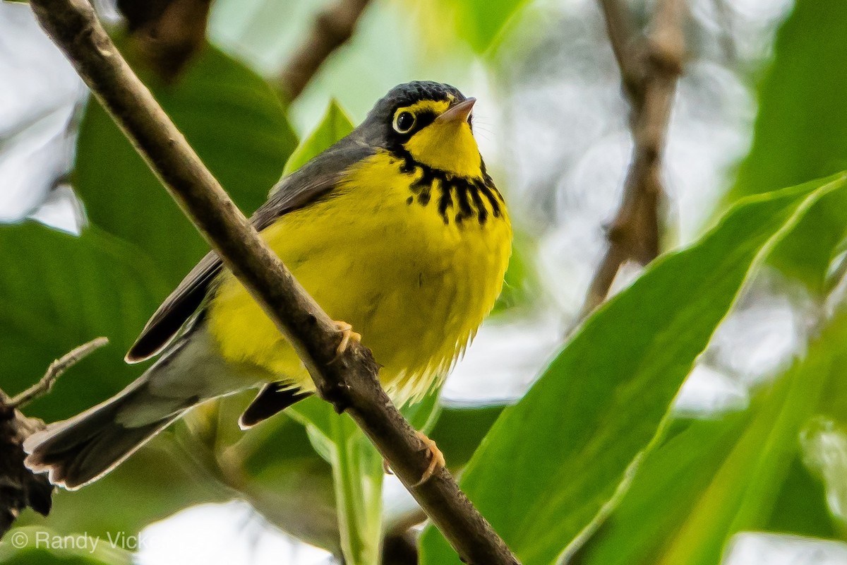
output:
[[[485,171],[484,163],[482,177],[468,179],[417,163],[407,152],[396,157],[400,159],[400,172],[414,178],[409,185],[412,196],[407,198],[407,204],[418,202],[425,208],[435,200],[444,223],[450,224],[452,216],[456,224],[461,226],[462,222],[473,216],[476,216],[479,224],[485,224],[489,217],[489,210],[484,204],[487,200],[491,215],[500,218],[503,197],[494,186],[490,174]]]

